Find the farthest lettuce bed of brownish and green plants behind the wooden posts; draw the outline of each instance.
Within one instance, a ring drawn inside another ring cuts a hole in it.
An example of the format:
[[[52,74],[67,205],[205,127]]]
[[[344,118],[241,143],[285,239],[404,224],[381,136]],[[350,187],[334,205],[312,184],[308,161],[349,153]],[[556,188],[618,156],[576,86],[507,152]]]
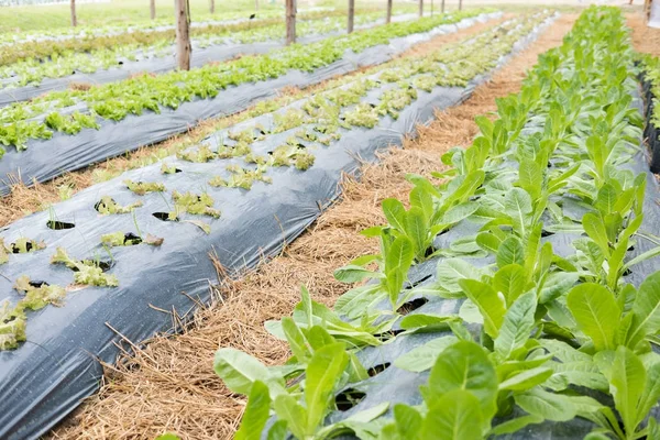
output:
[[[309,15],[309,16],[308,16]],[[355,14],[358,28],[383,21],[382,12]],[[345,29],[345,14],[317,12],[300,16],[296,24],[298,37],[321,35]],[[282,20],[262,20],[257,23],[193,28],[194,51],[222,44],[251,44],[283,41],[285,25]],[[133,32],[90,40],[29,42],[2,48],[0,46],[0,87],[10,89],[37,86],[44,78],[62,78],[72,73],[92,74],[98,70],[122,68],[127,62],[144,61],[174,53],[174,30],[161,32]]]

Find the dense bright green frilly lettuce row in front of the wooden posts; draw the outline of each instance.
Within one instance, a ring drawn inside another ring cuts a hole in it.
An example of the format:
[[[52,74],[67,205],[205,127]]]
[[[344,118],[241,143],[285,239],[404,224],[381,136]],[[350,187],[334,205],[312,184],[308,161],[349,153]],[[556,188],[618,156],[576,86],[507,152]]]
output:
[[[177,109],[186,101],[215,98],[231,86],[277,78],[293,69],[314,72],[340,59],[346,51],[361,53],[369,47],[387,44],[392,38],[430,31],[481,12],[466,11],[391,23],[189,72],[140,76],[88,90],[52,92],[31,102],[0,109],[0,142],[21,150],[29,140],[50,139],[54,131],[76,134],[85,128],[98,128],[99,119],[121,121],[128,114],[142,114],[146,110],[160,113],[163,108]]]

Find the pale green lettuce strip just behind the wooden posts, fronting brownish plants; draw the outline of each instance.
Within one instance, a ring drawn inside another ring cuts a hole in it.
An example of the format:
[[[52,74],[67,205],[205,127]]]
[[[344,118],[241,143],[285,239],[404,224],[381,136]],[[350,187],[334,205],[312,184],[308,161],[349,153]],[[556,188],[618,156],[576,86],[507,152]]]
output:
[[[381,12],[355,15],[358,28],[370,26],[382,19]],[[224,26],[229,28],[229,26]],[[263,41],[280,41],[285,35],[285,25],[280,21],[260,26],[244,26],[243,30],[223,29],[218,31],[208,28],[195,28],[193,47],[206,48],[219,44],[246,44]],[[345,18],[321,16],[314,20],[301,20],[296,25],[299,37],[321,35],[337,32],[345,28]],[[123,65],[124,62],[136,62],[150,58],[172,56],[174,34],[161,35],[161,40],[141,41],[130,44],[113,44],[110,47],[92,48],[89,52],[50,53],[47,58],[29,58],[0,67],[0,78],[4,79],[0,87],[15,88],[26,85],[38,85],[44,78],[61,78],[72,73],[92,74],[99,69],[109,69]]]

